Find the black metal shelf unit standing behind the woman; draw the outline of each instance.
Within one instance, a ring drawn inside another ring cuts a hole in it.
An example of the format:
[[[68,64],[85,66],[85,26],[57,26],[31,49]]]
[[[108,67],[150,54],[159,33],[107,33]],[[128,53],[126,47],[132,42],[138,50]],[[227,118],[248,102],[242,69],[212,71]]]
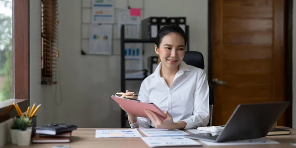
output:
[[[185,27],[185,34],[187,37],[187,43],[186,43],[186,51],[189,51],[189,26],[186,25]],[[125,92],[125,81],[126,80],[144,80],[143,78],[125,78],[125,60],[124,60],[124,45],[125,43],[154,43],[155,39],[131,39],[131,38],[125,38],[124,37],[124,25],[120,28],[120,61],[121,61],[121,68],[120,68],[120,87],[121,92]],[[121,127],[126,127],[126,121],[127,117],[125,115],[125,111],[121,110]]]

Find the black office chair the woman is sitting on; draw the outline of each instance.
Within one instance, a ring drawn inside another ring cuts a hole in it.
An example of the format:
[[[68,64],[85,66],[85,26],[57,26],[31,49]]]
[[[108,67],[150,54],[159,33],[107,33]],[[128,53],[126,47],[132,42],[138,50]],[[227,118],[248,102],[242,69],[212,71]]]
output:
[[[202,53],[198,52],[198,51],[185,51],[185,56],[183,61],[187,64],[187,65],[191,65],[200,69],[204,69],[205,68],[205,64],[204,64],[204,58]],[[214,89],[213,89],[213,85],[211,83],[209,83],[209,89],[210,89],[210,98],[209,98],[209,102],[210,102],[210,121],[208,126],[212,126],[212,118],[213,118],[213,106],[214,106]]]

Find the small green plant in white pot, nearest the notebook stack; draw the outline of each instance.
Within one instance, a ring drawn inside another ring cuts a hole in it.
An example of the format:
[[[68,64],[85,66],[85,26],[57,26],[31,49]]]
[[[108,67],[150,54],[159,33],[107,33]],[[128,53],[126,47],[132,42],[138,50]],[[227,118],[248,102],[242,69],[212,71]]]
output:
[[[16,142],[18,146],[29,146],[31,142],[32,134],[32,121],[29,117],[21,116],[17,118],[19,120],[18,128],[16,131]],[[31,127],[31,128],[30,128]]]

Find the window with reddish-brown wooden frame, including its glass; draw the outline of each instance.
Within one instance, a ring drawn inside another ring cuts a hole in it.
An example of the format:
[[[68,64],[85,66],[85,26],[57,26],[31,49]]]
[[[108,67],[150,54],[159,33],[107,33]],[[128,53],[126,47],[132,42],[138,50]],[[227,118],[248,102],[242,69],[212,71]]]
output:
[[[29,105],[28,14],[28,0],[0,0],[0,122]]]

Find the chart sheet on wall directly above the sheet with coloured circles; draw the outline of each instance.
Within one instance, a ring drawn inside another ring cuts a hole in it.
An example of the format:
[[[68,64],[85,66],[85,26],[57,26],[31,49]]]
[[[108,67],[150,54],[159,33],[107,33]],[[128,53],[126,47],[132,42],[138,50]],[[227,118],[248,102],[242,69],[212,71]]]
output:
[[[93,0],[92,2],[93,23],[114,23],[114,0]]]

